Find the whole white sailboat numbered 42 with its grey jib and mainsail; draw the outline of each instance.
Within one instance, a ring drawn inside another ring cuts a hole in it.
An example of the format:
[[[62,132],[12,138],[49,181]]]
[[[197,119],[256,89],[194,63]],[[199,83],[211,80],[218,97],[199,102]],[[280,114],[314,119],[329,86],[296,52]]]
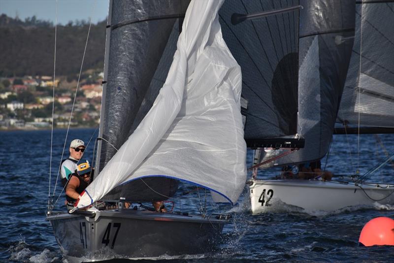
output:
[[[297,132],[305,137],[305,147],[274,165],[320,160],[333,133],[393,133],[394,29],[389,25],[394,23],[394,3],[308,0],[300,4],[304,9],[300,13]],[[337,128],[335,122],[346,126]],[[392,158],[388,156],[384,163]],[[283,204],[326,212],[375,202],[393,205],[394,184],[366,182],[383,164],[359,178],[252,179],[248,181],[252,213]]]

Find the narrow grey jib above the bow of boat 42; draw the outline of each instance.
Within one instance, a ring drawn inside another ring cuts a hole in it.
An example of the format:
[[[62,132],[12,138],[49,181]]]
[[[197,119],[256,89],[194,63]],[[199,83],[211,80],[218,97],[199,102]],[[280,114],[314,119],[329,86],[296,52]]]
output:
[[[355,1],[301,0],[298,128],[305,147],[276,164],[326,155],[346,80],[355,33]]]

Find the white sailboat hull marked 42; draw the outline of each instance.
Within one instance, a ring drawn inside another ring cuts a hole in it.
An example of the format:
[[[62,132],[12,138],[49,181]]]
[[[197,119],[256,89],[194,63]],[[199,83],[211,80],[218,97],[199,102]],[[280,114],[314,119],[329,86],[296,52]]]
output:
[[[394,184],[309,180],[251,180],[253,214],[272,210],[276,205],[294,205],[309,211],[334,211],[348,206],[394,204]]]

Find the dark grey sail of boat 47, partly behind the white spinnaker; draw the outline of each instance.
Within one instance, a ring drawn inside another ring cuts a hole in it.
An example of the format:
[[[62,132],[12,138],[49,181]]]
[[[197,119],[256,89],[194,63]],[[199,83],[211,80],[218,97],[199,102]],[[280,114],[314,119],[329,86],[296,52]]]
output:
[[[135,130],[159,94],[188,4],[167,0],[110,1],[99,171]],[[152,177],[118,186],[104,199],[163,200],[176,189],[176,180]]]

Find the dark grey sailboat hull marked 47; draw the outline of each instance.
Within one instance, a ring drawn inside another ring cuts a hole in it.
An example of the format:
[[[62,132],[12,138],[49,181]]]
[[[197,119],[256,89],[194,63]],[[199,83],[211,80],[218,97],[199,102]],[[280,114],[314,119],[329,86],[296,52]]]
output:
[[[132,209],[47,216],[71,262],[157,258],[212,251],[227,220]]]

